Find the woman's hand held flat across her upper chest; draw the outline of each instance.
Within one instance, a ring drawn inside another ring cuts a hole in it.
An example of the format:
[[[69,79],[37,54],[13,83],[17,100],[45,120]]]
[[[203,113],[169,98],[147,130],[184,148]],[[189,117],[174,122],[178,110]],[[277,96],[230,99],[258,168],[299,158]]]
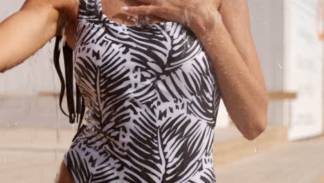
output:
[[[126,6],[130,15],[153,15],[176,21],[193,30],[208,30],[221,22],[220,0],[137,0],[148,5]]]

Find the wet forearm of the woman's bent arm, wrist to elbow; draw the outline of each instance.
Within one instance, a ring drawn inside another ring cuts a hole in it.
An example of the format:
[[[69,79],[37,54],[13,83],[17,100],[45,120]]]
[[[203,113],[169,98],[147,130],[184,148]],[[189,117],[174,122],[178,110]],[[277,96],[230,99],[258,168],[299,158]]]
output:
[[[194,32],[210,58],[233,123],[246,139],[255,139],[267,126],[268,94],[263,78],[253,76],[222,22]]]

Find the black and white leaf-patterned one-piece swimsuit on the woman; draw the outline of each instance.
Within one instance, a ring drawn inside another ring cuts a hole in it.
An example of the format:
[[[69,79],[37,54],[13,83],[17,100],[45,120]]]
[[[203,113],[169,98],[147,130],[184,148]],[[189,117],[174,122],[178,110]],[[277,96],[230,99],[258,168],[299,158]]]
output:
[[[87,127],[64,156],[76,183],[216,182],[220,93],[188,27],[127,26],[100,0],[80,0],[74,56],[87,105]]]

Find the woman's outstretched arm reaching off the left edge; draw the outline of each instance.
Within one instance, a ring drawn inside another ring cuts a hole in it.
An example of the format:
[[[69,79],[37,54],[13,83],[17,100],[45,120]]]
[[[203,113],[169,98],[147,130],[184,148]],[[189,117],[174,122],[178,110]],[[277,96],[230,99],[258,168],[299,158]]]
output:
[[[60,35],[72,0],[26,0],[18,12],[0,23],[0,72],[21,64]]]

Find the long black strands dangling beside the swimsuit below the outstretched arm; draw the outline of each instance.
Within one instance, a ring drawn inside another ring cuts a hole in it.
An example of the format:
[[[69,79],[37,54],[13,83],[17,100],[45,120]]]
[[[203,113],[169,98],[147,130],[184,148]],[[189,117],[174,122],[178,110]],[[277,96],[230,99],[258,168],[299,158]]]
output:
[[[81,123],[84,116],[84,98],[80,94],[80,89],[78,85],[75,84],[75,105],[74,105],[74,95],[73,95],[73,50],[69,47],[68,44],[63,46],[63,55],[64,55],[64,68],[65,68],[65,81],[60,67],[60,41],[62,40],[61,35],[57,35],[55,40],[55,48],[53,54],[53,61],[55,65],[55,70],[57,75],[60,78],[61,82],[61,92],[60,92],[60,109],[65,116],[69,117],[69,123],[79,123],[78,130],[73,137],[72,141],[78,137],[78,134],[82,131]],[[62,109],[62,99],[64,92],[66,90],[66,102],[69,110],[69,114],[66,114]],[[75,115],[76,114],[76,115]],[[76,121],[75,121],[76,120]]]

